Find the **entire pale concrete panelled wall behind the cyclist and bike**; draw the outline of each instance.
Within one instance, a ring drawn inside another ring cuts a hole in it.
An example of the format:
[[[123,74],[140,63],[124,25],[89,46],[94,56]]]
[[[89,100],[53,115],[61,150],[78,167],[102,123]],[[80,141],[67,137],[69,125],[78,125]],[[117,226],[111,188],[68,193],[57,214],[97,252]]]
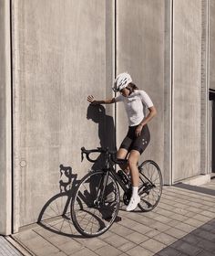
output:
[[[0,211],[1,233],[10,233],[12,213],[10,6],[6,2],[0,0],[4,63],[0,66],[0,203],[5,207]],[[201,120],[207,111],[201,109],[205,103],[201,0],[11,3],[14,231],[35,222],[46,202],[60,192],[60,165],[70,166],[77,179],[87,172],[91,165],[80,162],[81,146],[114,147],[115,107],[88,107],[86,99],[88,94],[111,98],[114,76],[122,71],[148,92],[158,110],[149,123],[151,142],[141,159],[158,162],[165,184],[200,174]],[[214,88],[213,9],[210,1],[210,88]],[[124,106],[118,103],[118,146],[127,129]]]

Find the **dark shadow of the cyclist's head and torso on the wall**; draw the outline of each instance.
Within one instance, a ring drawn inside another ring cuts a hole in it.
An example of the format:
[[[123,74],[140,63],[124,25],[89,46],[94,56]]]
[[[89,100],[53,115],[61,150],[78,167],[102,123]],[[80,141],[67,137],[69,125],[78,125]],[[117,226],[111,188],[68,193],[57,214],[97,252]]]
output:
[[[106,114],[104,106],[90,104],[87,108],[87,119],[92,120],[98,125],[97,133],[100,140],[100,147],[108,147],[110,150],[116,150],[114,119],[112,116]],[[92,165],[92,169],[97,170],[104,166],[103,160],[103,155],[98,155],[97,162]]]

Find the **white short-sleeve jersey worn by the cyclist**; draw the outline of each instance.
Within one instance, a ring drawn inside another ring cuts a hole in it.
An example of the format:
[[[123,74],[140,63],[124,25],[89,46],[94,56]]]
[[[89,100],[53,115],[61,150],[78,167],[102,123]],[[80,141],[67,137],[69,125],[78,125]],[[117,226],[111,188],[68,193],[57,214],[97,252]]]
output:
[[[123,101],[128,115],[128,125],[138,125],[146,116],[146,108],[153,106],[146,91],[135,90],[128,97],[118,95],[115,102]]]

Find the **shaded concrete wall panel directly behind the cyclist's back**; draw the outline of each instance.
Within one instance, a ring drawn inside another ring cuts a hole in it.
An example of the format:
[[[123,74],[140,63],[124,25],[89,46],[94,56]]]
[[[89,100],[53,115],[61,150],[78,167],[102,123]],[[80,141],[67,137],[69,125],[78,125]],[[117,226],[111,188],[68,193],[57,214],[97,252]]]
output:
[[[141,159],[152,158],[164,169],[165,2],[118,1],[118,73],[127,71],[148,92],[158,115],[149,123],[151,141]],[[167,87],[170,85],[167,84]],[[170,122],[170,121],[169,121]],[[128,132],[124,105],[118,103],[118,146]],[[167,173],[169,170],[167,170]]]

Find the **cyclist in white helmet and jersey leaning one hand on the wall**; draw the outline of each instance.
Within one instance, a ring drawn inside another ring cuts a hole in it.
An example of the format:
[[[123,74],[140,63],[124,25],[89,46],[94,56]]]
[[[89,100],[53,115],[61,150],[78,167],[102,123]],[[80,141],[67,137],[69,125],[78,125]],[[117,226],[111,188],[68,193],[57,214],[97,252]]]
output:
[[[156,115],[157,111],[146,91],[138,90],[128,73],[120,73],[114,82],[113,91],[120,92],[118,97],[104,101],[96,101],[93,95],[87,97],[92,104],[111,104],[123,101],[128,115],[128,133],[118,149],[117,157],[128,157],[128,170],[131,176],[132,195],[127,211],[137,208],[140,202],[138,196],[138,159],[148,146],[150,133],[148,122]],[[148,114],[146,114],[148,108]],[[123,166],[127,170],[127,166]]]

